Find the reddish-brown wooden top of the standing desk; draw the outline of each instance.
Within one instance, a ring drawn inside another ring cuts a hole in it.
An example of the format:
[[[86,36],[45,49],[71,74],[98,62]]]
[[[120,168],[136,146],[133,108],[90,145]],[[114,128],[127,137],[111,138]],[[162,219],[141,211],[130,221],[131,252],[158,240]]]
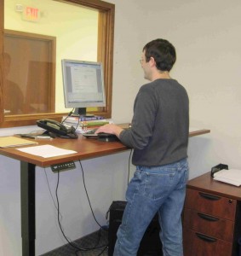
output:
[[[209,133],[209,130],[199,130],[190,132],[190,137]],[[96,139],[88,139],[79,135],[78,139],[55,138],[53,140],[35,140],[38,145],[53,145],[55,147],[74,150],[76,154],[66,154],[58,157],[43,158],[33,154],[26,154],[15,148],[0,148],[0,154],[11,157],[15,160],[26,161],[36,166],[47,167],[54,164],[64,163],[71,160],[86,160],[107,154],[114,154],[128,150],[120,142],[100,142]],[[29,146],[27,146],[29,147]]]

